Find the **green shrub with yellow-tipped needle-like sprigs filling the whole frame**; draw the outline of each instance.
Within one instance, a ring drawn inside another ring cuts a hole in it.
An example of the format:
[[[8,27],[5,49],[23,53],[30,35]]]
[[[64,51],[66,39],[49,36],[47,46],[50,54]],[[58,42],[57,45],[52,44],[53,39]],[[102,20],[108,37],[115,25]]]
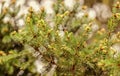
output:
[[[80,8],[78,2],[68,10],[63,0],[57,0],[53,5],[52,27],[44,7],[39,12],[30,7],[21,29],[15,23],[2,21],[6,14],[13,19],[17,14],[3,9],[0,16],[0,75],[46,75],[54,65],[54,76],[119,76],[120,57],[112,48],[114,43],[120,43],[120,32],[115,31],[119,27],[119,6],[119,2],[113,6],[107,29],[94,32],[95,20],[89,19],[87,12],[82,18],[76,17],[78,11],[86,10],[86,6]],[[113,33],[115,39],[111,39]],[[41,74],[34,65],[38,58],[45,64]]]

